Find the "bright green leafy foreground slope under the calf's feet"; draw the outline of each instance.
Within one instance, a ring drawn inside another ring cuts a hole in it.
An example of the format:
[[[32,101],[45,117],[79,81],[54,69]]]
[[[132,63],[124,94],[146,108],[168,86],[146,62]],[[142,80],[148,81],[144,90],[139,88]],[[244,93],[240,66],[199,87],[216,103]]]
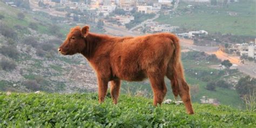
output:
[[[255,127],[256,114],[227,106],[193,104],[152,106],[152,100],[122,95],[98,104],[97,94],[0,92],[0,127]]]

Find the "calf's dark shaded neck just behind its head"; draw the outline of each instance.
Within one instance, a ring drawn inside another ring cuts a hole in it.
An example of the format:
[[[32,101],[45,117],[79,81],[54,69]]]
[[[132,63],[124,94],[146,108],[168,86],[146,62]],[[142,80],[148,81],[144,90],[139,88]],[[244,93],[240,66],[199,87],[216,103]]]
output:
[[[94,55],[95,51],[97,50],[97,46],[103,42],[104,36],[98,35],[96,33],[89,33],[84,39],[85,41],[85,49],[82,52],[88,60]]]

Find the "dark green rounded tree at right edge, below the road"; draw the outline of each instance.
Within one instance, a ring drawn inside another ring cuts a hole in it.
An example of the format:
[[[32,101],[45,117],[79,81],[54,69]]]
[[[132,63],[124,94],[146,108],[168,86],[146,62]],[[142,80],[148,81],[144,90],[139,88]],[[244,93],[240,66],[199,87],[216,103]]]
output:
[[[235,89],[241,96],[248,95],[250,92],[256,91],[256,79],[250,76],[240,78]]]

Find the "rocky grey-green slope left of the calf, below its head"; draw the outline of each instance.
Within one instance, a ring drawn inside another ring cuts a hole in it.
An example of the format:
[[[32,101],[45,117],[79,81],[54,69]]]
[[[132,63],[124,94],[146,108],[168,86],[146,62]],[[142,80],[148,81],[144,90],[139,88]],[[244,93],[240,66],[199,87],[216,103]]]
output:
[[[33,35],[24,35],[25,37],[33,36],[37,38],[39,44],[44,43],[47,39],[56,38],[46,34],[41,35],[31,29]],[[9,45],[8,39],[0,35],[0,48]],[[37,80],[41,77],[44,82],[38,82],[39,90],[50,92],[76,92],[76,91],[95,91],[97,89],[97,80],[95,73],[87,64],[82,55],[62,56],[55,52],[52,58],[40,57],[36,55],[38,48],[22,43],[22,39],[15,41],[19,56],[12,59],[0,53],[3,58],[14,60],[16,68],[14,70],[0,69],[0,82],[5,83],[1,89],[16,91],[31,91],[28,85],[24,85],[26,80]],[[56,49],[57,49],[56,45]],[[0,65],[1,66],[1,65]],[[7,84],[6,84],[7,83]],[[6,87],[4,87],[6,86]],[[36,91],[36,90],[33,90]]]

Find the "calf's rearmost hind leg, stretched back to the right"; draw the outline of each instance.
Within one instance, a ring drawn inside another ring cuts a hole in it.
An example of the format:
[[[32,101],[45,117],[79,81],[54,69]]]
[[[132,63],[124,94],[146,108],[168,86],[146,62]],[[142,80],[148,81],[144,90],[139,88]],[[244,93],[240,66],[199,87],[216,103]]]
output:
[[[172,69],[172,66],[168,66],[166,76],[171,80],[172,91],[175,97],[180,96],[183,101],[188,114],[193,114],[193,107],[190,98],[190,87],[186,83],[183,75],[183,67],[179,63],[176,67],[176,71]]]

